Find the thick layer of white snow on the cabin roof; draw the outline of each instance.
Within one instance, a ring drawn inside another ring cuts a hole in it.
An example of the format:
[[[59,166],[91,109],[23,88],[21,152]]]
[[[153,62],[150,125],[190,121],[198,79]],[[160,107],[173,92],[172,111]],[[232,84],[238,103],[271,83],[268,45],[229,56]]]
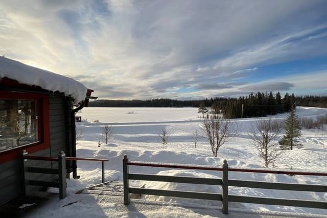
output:
[[[22,84],[38,85],[45,90],[62,92],[74,98],[75,103],[81,102],[86,97],[86,86],[72,78],[0,57],[0,80],[4,77]]]

